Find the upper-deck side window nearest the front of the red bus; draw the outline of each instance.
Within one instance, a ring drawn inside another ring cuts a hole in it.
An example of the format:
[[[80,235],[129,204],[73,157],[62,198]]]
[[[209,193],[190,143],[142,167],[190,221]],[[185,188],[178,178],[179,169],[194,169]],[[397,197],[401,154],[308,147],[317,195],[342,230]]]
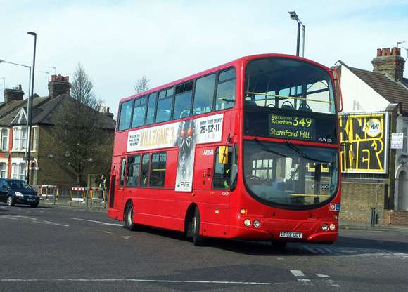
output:
[[[224,110],[234,107],[236,98],[236,72],[228,69],[219,73],[215,110]]]

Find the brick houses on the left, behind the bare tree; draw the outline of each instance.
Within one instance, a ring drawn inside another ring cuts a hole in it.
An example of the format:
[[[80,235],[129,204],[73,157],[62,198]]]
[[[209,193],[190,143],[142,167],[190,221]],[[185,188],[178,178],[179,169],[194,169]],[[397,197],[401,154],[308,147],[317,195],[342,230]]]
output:
[[[32,108],[32,134],[30,157],[30,183],[32,185],[76,185],[75,175],[62,166],[53,155],[52,127],[58,123],[56,113],[72,102],[68,77],[53,75],[49,82],[49,95],[34,95]],[[0,176],[25,180],[27,173],[27,99],[23,99],[21,86],[4,90],[4,102],[0,104]],[[100,113],[101,128],[107,137],[113,135],[115,121],[106,110]],[[111,157],[113,145],[106,139],[106,155]],[[109,161],[110,159],[106,159]],[[94,165],[86,168],[84,175],[108,173],[110,165]]]

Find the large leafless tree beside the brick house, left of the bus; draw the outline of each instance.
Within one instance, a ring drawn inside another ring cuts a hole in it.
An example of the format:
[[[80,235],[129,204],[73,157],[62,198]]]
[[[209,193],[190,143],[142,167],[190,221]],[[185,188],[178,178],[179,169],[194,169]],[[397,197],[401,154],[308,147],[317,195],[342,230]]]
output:
[[[109,168],[113,145],[113,120],[106,119],[99,110],[93,85],[84,67],[77,65],[73,74],[72,97],[61,99],[53,126],[54,152],[61,166],[75,175],[78,185],[84,184],[86,170],[103,166],[96,173]],[[109,159],[107,159],[109,157]]]

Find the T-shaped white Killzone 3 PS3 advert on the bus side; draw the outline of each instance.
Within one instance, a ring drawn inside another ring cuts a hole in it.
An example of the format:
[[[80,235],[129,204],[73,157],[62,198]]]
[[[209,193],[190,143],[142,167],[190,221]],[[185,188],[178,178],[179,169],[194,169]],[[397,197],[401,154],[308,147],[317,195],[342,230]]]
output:
[[[179,147],[175,190],[191,192],[196,144],[222,139],[224,114],[130,131],[127,152]]]

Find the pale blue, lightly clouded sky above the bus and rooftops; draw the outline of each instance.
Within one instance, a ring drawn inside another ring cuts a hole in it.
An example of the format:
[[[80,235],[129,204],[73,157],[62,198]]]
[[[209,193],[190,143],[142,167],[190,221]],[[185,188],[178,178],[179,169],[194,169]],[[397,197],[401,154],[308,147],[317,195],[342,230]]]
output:
[[[305,57],[371,70],[376,48],[407,41],[405,1],[18,1],[0,0],[0,59],[32,64],[34,91],[47,74],[72,76],[82,62],[96,95],[116,114],[120,98],[146,74],[151,87],[256,53],[295,53],[295,10],[306,25]],[[34,17],[32,16],[34,15]],[[407,51],[402,50],[407,58]],[[41,72],[42,71],[42,72]],[[404,76],[408,76],[405,70]],[[0,88],[22,84],[25,68],[0,64]],[[2,98],[0,98],[0,101]]]

